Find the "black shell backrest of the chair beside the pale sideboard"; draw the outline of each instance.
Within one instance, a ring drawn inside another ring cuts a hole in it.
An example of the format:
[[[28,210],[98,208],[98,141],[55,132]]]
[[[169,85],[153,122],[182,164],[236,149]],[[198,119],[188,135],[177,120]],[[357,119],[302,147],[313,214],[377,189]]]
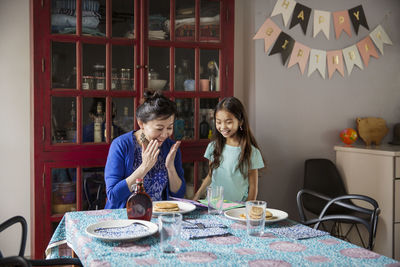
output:
[[[303,189],[312,190],[330,198],[347,194],[336,165],[329,159],[308,159],[305,161]],[[305,195],[303,199],[304,208],[315,215],[320,214],[326,203],[327,201],[311,195]],[[334,209],[339,210],[333,211]],[[330,212],[343,212],[343,209],[333,206]]]

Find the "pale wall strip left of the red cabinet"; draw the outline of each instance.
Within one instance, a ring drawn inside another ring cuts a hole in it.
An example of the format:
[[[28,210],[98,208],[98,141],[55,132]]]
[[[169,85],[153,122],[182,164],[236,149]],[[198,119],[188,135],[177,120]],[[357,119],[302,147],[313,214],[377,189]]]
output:
[[[30,221],[29,1],[0,1],[0,222]],[[0,235],[0,250],[19,249],[20,226]],[[30,229],[28,230],[30,231]],[[30,255],[28,237],[26,255]]]

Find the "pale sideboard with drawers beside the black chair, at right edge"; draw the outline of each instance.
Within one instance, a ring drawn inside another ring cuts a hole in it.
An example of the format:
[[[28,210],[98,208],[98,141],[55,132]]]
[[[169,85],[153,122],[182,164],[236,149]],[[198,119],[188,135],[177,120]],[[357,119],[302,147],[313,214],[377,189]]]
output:
[[[374,251],[400,260],[400,146],[335,146],[336,165],[350,194],[381,208]]]

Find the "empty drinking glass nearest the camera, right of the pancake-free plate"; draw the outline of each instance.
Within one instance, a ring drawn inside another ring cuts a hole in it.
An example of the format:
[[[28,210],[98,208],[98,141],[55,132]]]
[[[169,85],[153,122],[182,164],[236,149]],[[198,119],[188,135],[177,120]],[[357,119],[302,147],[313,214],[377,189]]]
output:
[[[176,253],[179,251],[181,236],[182,214],[168,213],[158,216],[160,231],[160,246],[164,253]]]

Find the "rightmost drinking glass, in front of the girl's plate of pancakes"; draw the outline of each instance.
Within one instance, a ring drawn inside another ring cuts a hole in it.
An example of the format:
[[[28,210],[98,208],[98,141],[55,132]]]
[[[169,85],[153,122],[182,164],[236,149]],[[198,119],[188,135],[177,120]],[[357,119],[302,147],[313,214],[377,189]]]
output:
[[[266,208],[267,203],[265,201],[246,201],[246,226],[248,235],[261,236],[264,234]]]

